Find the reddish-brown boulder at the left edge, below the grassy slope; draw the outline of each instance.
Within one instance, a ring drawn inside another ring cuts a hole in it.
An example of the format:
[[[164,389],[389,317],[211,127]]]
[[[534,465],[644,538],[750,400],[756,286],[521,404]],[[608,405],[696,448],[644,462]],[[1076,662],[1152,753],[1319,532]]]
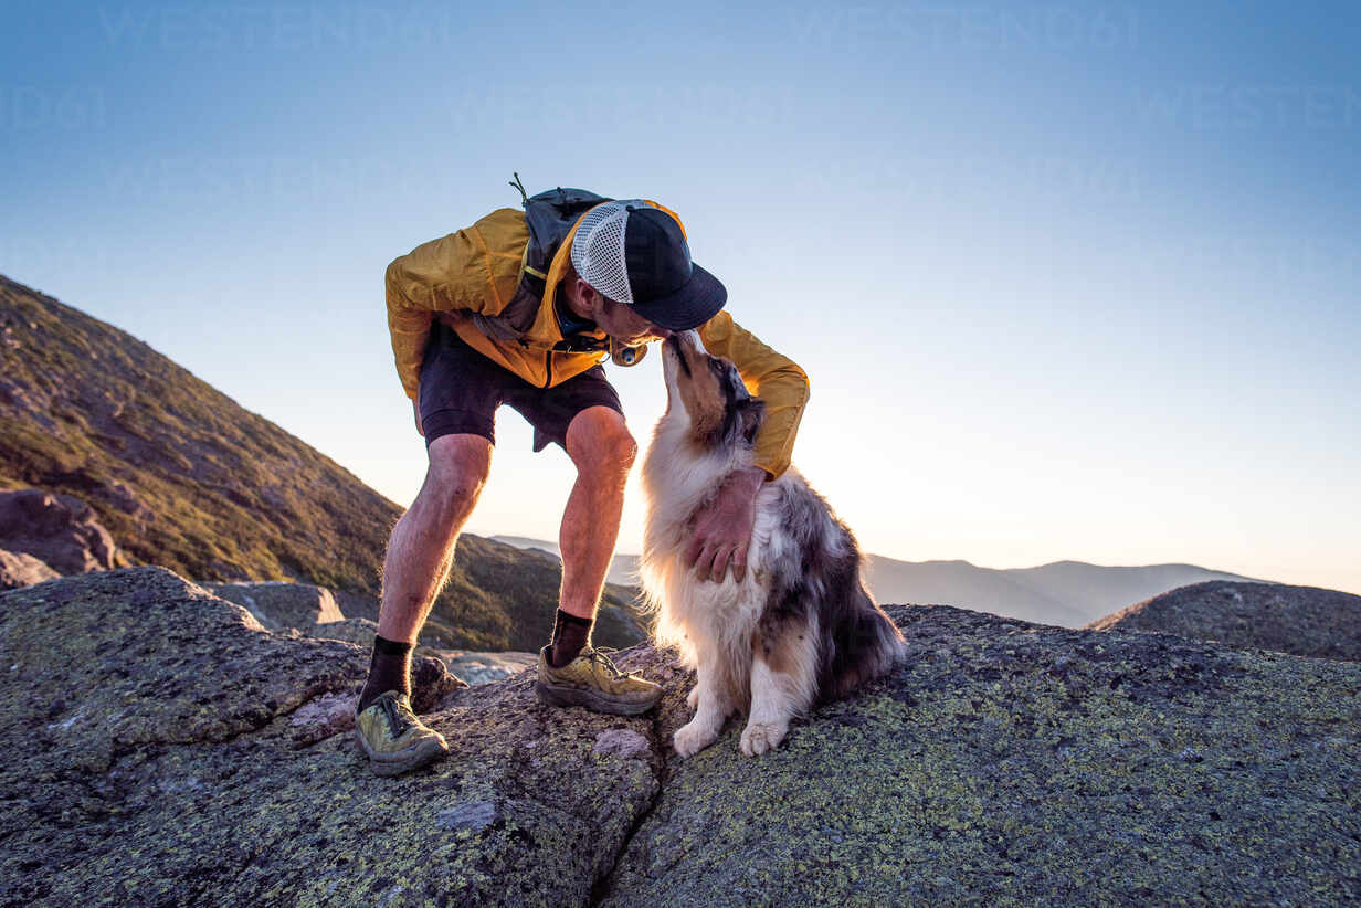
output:
[[[61,574],[113,568],[113,536],[79,498],[20,489],[0,491],[0,549],[24,553]]]

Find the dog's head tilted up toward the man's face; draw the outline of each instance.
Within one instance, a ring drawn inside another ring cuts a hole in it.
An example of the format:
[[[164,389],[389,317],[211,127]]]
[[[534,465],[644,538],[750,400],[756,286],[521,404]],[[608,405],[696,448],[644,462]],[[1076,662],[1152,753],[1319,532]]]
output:
[[[751,445],[765,403],[747,392],[738,368],[710,357],[694,331],[678,331],[661,344],[667,417],[689,422],[690,440],[702,449]]]

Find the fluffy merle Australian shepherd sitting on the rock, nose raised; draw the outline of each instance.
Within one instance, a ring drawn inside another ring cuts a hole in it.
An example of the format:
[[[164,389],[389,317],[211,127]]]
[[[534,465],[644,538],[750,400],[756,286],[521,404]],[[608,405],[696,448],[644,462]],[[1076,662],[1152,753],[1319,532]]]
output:
[[[698,677],[687,698],[694,717],[674,743],[690,757],[743,711],[742,751],[758,756],[795,716],[885,674],[905,645],[864,587],[855,536],[793,467],[757,494],[744,577],[697,579],[685,562],[689,519],[751,466],[765,406],[697,332],[672,335],[661,351],[667,411],[642,463],[638,569],[657,643],[678,648]]]

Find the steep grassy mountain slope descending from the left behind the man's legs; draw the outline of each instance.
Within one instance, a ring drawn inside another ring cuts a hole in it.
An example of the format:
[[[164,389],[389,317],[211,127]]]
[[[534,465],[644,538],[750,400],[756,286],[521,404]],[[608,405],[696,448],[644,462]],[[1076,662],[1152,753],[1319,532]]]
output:
[[[351,618],[377,614],[401,508],[136,338],[0,275],[0,490],[87,502],[117,565],[196,580],[302,580]],[[538,649],[561,566],[464,534],[423,638]],[[607,588],[595,638],[642,637],[632,591]]]

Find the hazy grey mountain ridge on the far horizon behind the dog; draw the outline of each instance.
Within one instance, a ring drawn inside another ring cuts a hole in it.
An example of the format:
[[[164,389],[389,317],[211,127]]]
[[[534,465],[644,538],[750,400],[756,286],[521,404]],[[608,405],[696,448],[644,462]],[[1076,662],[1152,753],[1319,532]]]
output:
[[[558,546],[527,536],[493,536],[519,549],[561,557]],[[637,555],[615,555],[608,580],[637,584]],[[1161,592],[1204,580],[1244,580],[1195,565],[1106,568],[1056,561],[1038,568],[979,568],[968,561],[866,557],[866,583],[881,603],[936,603],[1060,628],[1083,625]]]

